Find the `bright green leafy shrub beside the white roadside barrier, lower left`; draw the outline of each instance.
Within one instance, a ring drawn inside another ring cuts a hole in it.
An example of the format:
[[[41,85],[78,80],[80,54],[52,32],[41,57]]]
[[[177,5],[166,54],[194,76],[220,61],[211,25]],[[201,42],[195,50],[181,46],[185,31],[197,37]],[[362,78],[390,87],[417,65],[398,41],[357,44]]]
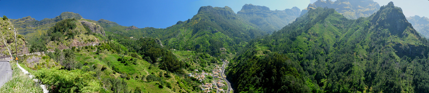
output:
[[[38,70],[34,75],[42,81],[42,84],[51,85],[48,90],[53,93],[94,92],[100,91],[100,80],[93,75],[95,72],[82,70]]]

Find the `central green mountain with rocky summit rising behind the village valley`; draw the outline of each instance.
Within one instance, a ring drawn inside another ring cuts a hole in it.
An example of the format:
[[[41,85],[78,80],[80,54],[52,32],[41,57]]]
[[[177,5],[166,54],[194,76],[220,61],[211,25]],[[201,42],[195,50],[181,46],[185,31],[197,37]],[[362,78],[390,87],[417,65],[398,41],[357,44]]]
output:
[[[106,20],[98,22],[112,23]],[[170,48],[207,52],[214,56],[233,53],[249,39],[266,34],[241,19],[228,6],[224,8],[202,6],[193,18],[178,21],[177,24],[165,29],[104,26],[106,31],[111,33],[134,38],[146,36],[159,38],[163,45]]]

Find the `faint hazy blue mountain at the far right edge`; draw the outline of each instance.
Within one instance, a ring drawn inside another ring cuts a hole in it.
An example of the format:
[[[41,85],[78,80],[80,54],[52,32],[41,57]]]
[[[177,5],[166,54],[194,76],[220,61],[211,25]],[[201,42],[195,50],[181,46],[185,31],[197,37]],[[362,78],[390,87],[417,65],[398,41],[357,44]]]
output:
[[[407,18],[407,20],[422,36],[429,37],[429,18],[415,15]]]

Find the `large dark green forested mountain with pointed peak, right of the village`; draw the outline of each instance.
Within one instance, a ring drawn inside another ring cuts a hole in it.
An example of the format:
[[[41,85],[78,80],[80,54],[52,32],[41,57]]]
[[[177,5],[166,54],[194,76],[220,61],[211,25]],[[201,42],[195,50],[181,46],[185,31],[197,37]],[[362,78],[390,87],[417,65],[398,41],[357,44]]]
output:
[[[390,2],[367,18],[310,9],[229,64],[236,92],[424,93],[429,41]]]

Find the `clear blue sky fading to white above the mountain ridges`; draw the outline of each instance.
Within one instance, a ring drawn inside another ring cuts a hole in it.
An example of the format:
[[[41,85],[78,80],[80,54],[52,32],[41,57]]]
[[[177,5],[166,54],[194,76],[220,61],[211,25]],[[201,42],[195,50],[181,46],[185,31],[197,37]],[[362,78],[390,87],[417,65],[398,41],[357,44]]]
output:
[[[0,0],[0,15],[18,19],[27,16],[42,20],[61,12],[75,12],[91,20],[106,19],[123,26],[166,28],[192,18],[201,6],[231,7],[234,12],[244,4],[284,10],[297,6],[304,9],[316,0]],[[335,0],[333,0],[335,1]],[[375,0],[386,5],[391,0]],[[393,0],[405,15],[428,16],[428,0]],[[413,3],[413,4],[411,4]]]

